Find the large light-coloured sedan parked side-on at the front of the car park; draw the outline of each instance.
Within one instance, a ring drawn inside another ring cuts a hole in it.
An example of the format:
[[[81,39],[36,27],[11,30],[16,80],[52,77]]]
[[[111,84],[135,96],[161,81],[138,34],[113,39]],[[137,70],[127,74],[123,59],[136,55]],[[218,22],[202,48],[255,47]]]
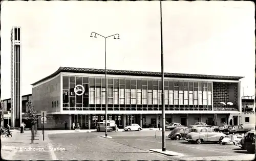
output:
[[[224,133],[215,132],[214,129],[210,127],[197,127],[191,129],[191,132],[186,135],[186,141],[197,144],[203,142],[220,143],[225,136]]]

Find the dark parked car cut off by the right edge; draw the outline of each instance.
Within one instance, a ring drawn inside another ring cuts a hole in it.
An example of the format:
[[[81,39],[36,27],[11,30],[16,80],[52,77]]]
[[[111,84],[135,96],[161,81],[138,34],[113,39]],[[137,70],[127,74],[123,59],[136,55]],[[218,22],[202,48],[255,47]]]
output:
[[[254,153],[255,150],[255,130],[248,132],[247,136],[244,139],[244,149],[250,153]]]

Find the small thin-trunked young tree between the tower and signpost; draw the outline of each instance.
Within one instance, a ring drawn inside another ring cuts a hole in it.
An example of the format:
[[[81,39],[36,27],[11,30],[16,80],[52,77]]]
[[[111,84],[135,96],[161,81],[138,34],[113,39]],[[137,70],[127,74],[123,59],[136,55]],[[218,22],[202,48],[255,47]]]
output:
[[[33,126],[37,124],[38,116],[36,111],[33,109],[31,101],[28,102],[28,111],[25,113],[26,120],[31,123],[31,143],[33,143]]]

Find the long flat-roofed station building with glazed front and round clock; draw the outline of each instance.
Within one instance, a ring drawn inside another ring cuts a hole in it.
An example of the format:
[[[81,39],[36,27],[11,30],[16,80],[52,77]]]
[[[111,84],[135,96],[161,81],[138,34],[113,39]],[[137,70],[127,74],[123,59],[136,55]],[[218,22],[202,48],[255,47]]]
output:
[[[164,74],[166,124],[239,124],[242,111],[241,76]],[[45,128],[63,128],[65,121],[93,129],[105,120],[108,87],[108,120],[119,128],[131,123],[142,127],[162,126],[161,73],[145,71],[60,67],[32,84],[32,103],[40,115],[47,111]],[[220,102],[232,102],[223,105]],[[39,127],[41,126],[39,121]]]

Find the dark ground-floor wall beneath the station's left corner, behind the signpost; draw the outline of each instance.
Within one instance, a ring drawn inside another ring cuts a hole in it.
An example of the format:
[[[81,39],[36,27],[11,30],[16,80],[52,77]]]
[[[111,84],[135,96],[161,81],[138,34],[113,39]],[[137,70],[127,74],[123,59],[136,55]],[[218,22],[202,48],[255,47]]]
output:
[[[65,129],[65,121],[68,123],[68,129],[71,126],[69,115],[47,115],[47,123],[45,129]],[[39,116],[38,128],[41,128],[41,116]]]

